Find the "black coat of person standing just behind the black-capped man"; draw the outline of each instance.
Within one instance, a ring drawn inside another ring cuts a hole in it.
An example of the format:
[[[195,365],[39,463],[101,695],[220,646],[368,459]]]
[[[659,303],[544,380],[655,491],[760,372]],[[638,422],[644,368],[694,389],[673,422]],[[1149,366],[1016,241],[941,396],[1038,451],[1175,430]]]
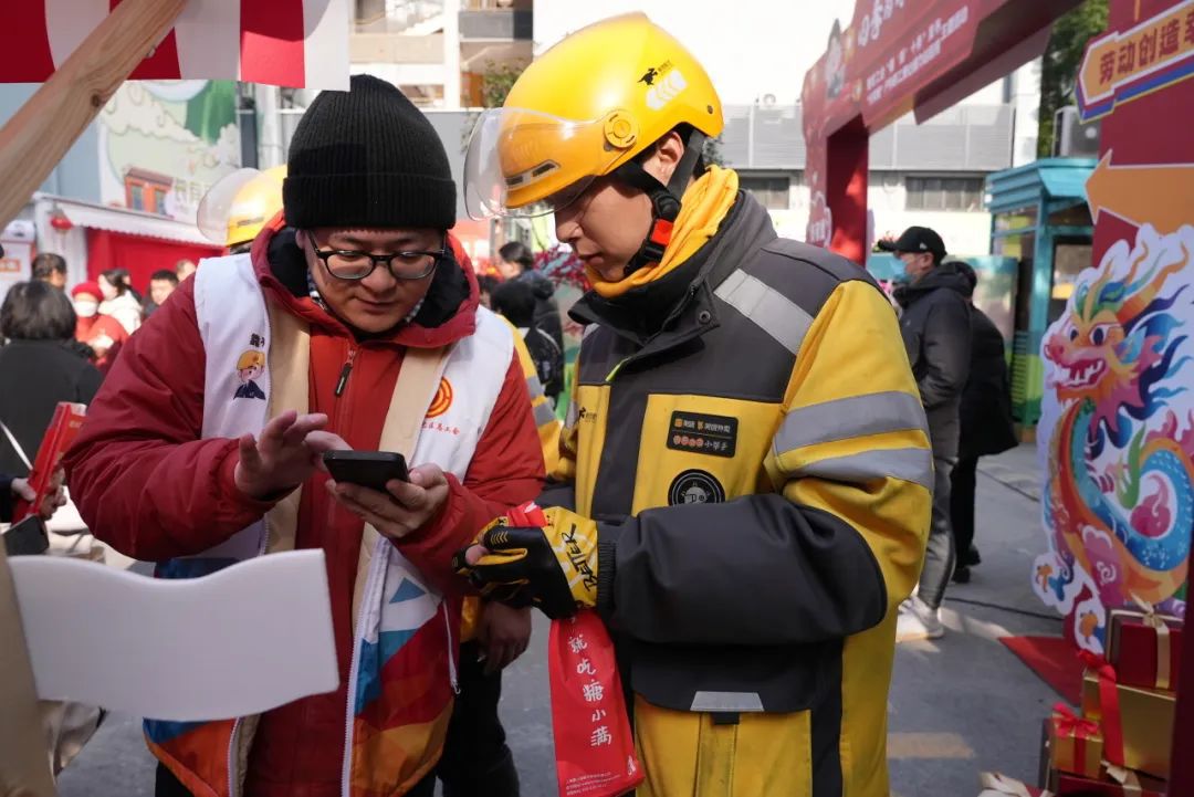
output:
[[[971,373],[962,390],[959,457],[985,457],[1016,447],[1011,381],[1003,333],[985,313],[971,308]]]

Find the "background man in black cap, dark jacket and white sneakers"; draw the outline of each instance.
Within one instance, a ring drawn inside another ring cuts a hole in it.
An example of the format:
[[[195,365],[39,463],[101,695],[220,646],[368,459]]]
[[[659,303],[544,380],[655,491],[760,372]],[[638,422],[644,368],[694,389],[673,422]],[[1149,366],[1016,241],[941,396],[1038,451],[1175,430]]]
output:
[[[894,252],[910,278],[896,290],[903,308],[900,332],[912,375],[929,418],[933,441],[933,523],[917,593],[901,606],[897,642],[937,638],[944,634],[941,603],[954,572],[954,536],[949,521],[949,475],[958,459],[959,404],[970,373],[970,284],[952,262],[946,245],[928,227],[910,227],[879,248]]]

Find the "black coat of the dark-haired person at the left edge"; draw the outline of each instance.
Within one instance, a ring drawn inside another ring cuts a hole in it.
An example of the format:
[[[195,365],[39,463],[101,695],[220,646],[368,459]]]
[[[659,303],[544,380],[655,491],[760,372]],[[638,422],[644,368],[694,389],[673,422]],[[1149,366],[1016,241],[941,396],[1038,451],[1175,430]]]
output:
[[[94,365],[57,340],[13,340],[0,348],[0,421],[12,431],[32,462],[60,401],[91,403],[101,376]],[[0,474],[29,475],[29,469],[0,434]]]

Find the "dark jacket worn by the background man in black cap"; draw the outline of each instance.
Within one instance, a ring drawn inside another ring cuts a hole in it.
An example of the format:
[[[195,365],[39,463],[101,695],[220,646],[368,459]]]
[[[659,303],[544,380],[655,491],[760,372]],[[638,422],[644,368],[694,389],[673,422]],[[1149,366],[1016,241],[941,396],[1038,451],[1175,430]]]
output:
[[[904,347],[929,418],[935,457],[958,456],[959,408],[971,360],[968,288],[958,268],[944,262],[896,291],[904,308]]]

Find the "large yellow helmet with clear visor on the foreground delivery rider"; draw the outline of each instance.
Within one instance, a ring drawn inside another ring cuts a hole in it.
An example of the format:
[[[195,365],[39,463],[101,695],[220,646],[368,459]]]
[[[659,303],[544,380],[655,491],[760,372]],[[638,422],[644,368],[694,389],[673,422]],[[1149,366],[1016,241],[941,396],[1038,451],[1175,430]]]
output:
[[[652,196],[657,217],[675,218],[683,189],[633,159],[678,125],[701,134],[689,146],[690,174],[704,137],[724,126],[704,68],[642,13],[595,23],[536,58],[505,105],[481,116],[464,159],[466,208],[473,218],[540,216],[617,172]]]

